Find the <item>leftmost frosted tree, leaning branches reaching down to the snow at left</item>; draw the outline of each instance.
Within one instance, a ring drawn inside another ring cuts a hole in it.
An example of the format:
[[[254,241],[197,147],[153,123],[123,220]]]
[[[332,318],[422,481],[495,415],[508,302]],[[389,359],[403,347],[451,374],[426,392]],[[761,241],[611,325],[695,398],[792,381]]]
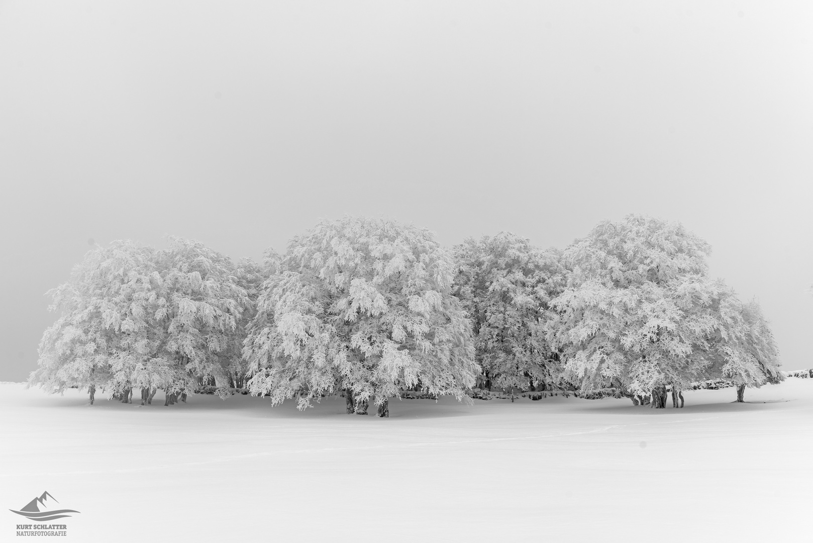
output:
[[[152,317],[154,251],[130,241],[94,247],[76,265],[71,279],[49,291],[50,309],[61,314],[42,336],[39,367],[28,379],[50,392],[97,387],[120,397],[132,388],[133,370],[158,346]]]

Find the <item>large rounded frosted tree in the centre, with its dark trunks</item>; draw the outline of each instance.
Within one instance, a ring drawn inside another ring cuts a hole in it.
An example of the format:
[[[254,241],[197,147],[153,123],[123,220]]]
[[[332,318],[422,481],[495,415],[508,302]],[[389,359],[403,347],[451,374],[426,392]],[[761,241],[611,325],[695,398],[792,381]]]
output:
[[[472,330],[451,295],[454,261],[428,230],[385,219],[320,221],[265,283],[244,356],[250,390],[298,408],[343,389],[348,413],[404,388],[452,394],[475,382]]]

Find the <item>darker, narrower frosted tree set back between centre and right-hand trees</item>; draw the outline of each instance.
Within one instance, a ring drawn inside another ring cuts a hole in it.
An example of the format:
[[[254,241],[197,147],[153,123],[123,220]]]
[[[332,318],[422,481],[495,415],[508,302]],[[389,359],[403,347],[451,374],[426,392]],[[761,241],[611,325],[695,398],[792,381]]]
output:
[[[557,353],[547,343],[545,323],[550,300],[564,287],[561,253],[501,232],[467,239],[454,256],[454,294],[472,318],[480,386],[553,386]]]

